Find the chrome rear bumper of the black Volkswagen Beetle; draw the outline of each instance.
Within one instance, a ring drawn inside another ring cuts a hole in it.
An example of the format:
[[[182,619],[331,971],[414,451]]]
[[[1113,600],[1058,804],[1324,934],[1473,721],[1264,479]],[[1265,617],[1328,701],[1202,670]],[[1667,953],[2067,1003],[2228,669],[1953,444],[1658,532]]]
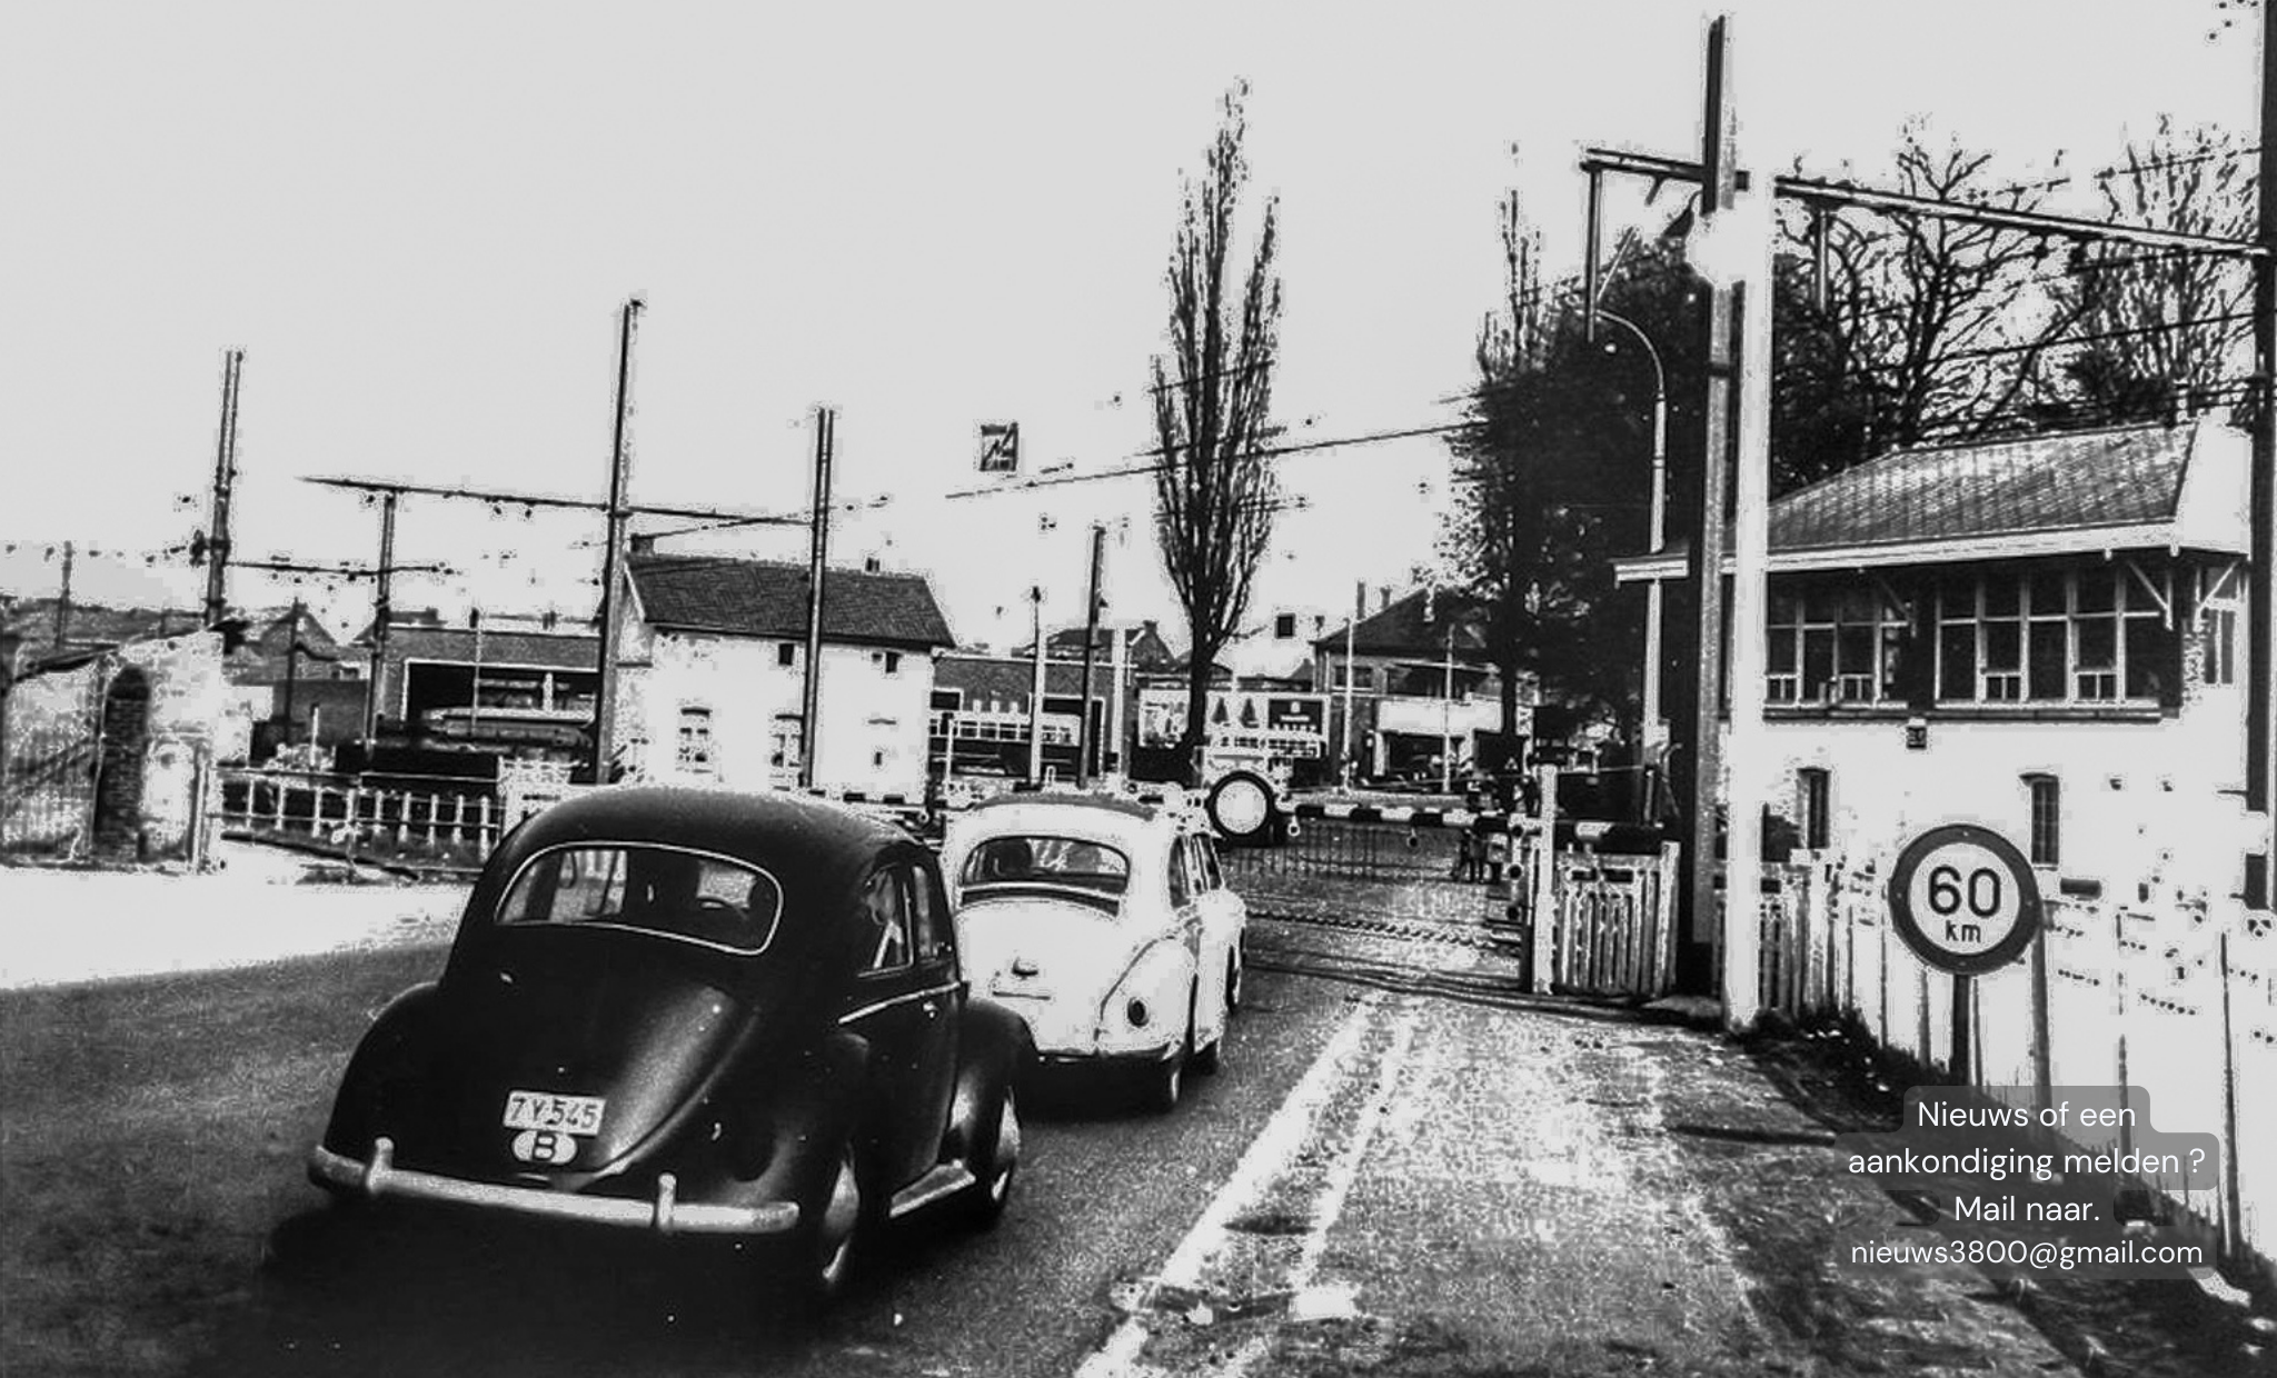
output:
[[[371,1157],[362,1162],[319,1143],[307,1157],[307,1180],[326,1191],[364,1196],[369,1200],[465,1205],[528,1219],[653,1230],[658,1235],[783,1235],[799,1223],[799,1207],[790,1200],[761,1205],[681,1203],[676,1198],[679,1180],[672,1173],[656,1178],[656,1196],[649,1200],[572,1196],[562,1191],[535,1191],[531,1187],[505,1187],[501,1182],[469,1182],[442,1173],[419,1173],[394,1166],[394,1143],[387,1139],[373,1141]]]

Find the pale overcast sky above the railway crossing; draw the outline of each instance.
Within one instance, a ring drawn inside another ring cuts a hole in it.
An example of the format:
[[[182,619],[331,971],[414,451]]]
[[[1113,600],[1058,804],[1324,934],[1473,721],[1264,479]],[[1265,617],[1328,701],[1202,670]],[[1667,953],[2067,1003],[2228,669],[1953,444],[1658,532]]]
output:
[[[1904,121],[2020,178],[2106,166],[2159,114],[2250,132],[2259,43],[2216,0],[1756,0],[1749,143],[1874,180]],[[977,426],[1027,465],[1152,444],[1148,358],[1184,175],[1250,82],[1255,191],[1282,210],[1275,385],[1291,440],[1444,424],[1501,285],[1516,187],[1578,262],[1587,143],[1692,153],[1705,14],[1491,5],[87,5],[0,25],[0,590],[105,551],[80,597],[198,597],[143,553],[205,522],[223,353],[244,348],[237,551],[376,556],[376,512],[301,483],[387,476],[597,497],[617,310],[642,296],[635,501],[797,510],[838,408],[833,563],[931,574],[965,640],[1082,615],[1086,524],[1116,617],[1164,617],[1143,478],[972,487]],[[2083,187],[2058,207],[2095,210]],[[1608,216],[1658,223],[1642,187]],[[1289,458],[1252,617],[1405,583],[1441,442]],[[194,499],[184,506],[180,499]],[[587,608],[592,517],[408,499],[398,606]],[[685,542],[683,542],[685,544]],[[667,544],[669,549],[669,544]],[[804,558],[804,531],[749,549]],[[369,585],[303,592],[348,633]],[[1182,624],[1179,624],[1182,626]],[[1182,642],[1177,631],[1173,642]]]

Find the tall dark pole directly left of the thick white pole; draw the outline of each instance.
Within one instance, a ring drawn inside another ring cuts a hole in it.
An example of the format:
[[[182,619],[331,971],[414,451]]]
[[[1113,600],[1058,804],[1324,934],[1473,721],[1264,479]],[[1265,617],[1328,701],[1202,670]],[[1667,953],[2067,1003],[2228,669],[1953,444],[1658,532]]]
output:
[[[1708,109],[1701,139],[1701,212],[1703,219],[1724,212],[1737,198],[1737,157],[1726,87],[1726,43],[1731,16],[1708,25]],[[1685,945],[1678,952],[1678,984],[1710,991],[1721,959],[1717,925],[1715,845],[1717,802],[1724,784],[1724,501],[1731,474],[1731,403],[1733,403],[1733,289],[1715,282],[1708,294],[1708,444],[1701,462],[1701,508],[1692,526],[1692,583],[1699,590],[1699,683],[1685,711],[1685,745],[1692,747],[1692,838],[1683,852]],[[1737,820],[1733,820],[1737,822]],[[1737,852],[1733,854],[1737,859]],[[1733,863],[1737,872],[1737,863]]]

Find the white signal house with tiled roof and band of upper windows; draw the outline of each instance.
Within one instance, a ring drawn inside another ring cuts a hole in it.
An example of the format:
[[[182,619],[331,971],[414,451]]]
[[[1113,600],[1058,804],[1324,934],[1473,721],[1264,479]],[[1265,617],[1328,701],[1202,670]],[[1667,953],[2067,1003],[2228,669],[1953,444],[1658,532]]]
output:
[[[1774,501],[1765,733],[1803,845],[1888,866],[1967,820],[2072,893],[2225,884],[2245,474],[2241,430],[2152,424],[1894,451]]]

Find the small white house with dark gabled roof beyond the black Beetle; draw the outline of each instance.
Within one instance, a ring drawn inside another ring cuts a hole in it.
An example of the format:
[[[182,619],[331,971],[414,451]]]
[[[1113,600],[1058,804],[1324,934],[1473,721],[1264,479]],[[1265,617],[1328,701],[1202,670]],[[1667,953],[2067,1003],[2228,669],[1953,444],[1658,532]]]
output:
[[[820,724],[802,717],[806,567],[635,553],[613,740],[628,777],[701,777],[868,799],[924,797],[934,651],[954,645],[920,574],[831,569],[822,583]]]

